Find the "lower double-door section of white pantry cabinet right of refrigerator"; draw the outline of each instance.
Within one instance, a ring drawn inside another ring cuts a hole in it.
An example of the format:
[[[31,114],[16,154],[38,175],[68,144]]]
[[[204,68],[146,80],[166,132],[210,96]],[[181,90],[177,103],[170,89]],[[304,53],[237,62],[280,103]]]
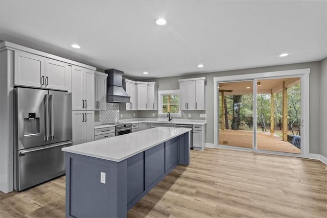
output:
[[[75,144],[94,140],[94,111],[73,111],[73,142]]]

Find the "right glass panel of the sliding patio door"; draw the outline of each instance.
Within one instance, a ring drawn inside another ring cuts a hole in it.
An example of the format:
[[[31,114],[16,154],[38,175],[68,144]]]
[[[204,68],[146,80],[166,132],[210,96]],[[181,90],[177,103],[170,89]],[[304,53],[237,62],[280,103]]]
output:
[[[256,149],[301,153],[301,79],[256,80]]]

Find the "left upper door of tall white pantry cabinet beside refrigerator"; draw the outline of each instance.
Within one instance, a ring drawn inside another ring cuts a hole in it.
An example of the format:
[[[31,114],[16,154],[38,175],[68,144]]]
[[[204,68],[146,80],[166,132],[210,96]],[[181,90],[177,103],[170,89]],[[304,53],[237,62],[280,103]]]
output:
[[[73,66],[72,81],[72,110],[84,110],[85,101],[83,68]]]

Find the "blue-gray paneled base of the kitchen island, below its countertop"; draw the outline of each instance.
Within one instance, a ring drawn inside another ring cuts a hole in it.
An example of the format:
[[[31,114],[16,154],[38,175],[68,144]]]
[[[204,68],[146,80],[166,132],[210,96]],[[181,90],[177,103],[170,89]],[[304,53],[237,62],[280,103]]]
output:
[[[65,155],[66,217],[126,217],[178,164],[190,164],[189,132],[120,162]],[[100,182],[101,172],[105,183]]]

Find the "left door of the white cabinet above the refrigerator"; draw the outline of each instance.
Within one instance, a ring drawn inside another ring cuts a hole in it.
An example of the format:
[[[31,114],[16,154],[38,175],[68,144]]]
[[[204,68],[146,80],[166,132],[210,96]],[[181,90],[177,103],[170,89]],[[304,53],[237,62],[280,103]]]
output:
[[[45,87],[44,57],[15,51],[15,85]]]

